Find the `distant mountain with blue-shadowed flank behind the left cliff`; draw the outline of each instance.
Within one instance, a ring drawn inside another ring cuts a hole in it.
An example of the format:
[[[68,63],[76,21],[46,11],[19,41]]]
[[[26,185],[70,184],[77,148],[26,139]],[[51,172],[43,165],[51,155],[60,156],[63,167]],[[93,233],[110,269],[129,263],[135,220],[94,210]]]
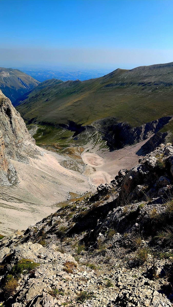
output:
[[[18,69],[0,67],[0,89],[12,103],[38,84],[39,81]]]

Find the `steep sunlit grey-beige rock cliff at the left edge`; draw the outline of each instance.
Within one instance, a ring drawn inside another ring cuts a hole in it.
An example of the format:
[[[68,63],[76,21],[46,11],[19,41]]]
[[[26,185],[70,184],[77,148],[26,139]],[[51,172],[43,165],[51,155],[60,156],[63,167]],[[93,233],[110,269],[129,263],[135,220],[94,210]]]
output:
[[[20,114],[0,90],[0,185],[17,182],[11,160],[27,163],[28,156],[38,153]]]

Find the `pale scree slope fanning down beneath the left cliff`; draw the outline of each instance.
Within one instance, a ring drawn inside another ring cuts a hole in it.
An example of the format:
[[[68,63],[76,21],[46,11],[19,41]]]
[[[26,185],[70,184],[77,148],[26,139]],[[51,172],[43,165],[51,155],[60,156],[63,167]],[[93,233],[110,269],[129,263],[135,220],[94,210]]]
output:
[[[20,182],[0,187],[0,233],[25,230],[56,212],[56,204],[68,199],[69,192],[80,195],[95,191],[88,177],[64,168],[60,160],[58,154],[49,151],[44,151],[38,159],[30,158],[29,164],[11,160]]]

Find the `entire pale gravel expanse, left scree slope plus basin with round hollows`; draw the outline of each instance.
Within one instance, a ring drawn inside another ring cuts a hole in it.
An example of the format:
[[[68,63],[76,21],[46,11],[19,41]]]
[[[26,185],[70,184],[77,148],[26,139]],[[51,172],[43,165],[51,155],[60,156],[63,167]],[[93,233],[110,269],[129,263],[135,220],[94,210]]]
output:
[[[25,230],[56,212],[56,204],[68,199],[69,192],[94,192],[101,183],[110,182],[120,169],[138,164],[140,156],[136,153],[145,142],[147,140],[113,152],[83,152],[84,174],[64,168],[59,164],[62,156],[47,150],[43,152],[42,148],[38,148],[42,156],[30,158],[29,164],[11,160],[20,182],[0,187],[0,233]]]

